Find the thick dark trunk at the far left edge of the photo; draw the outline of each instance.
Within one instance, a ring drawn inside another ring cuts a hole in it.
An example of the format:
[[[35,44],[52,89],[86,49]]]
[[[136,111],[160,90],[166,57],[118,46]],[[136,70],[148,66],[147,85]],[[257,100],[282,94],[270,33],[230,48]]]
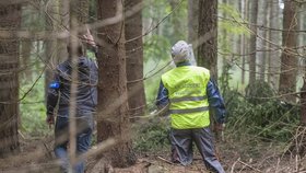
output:
[[[19,30],[20,4],[0,4],[0,27]],[[19,151],[19,39],[0,37],[0,157]]]

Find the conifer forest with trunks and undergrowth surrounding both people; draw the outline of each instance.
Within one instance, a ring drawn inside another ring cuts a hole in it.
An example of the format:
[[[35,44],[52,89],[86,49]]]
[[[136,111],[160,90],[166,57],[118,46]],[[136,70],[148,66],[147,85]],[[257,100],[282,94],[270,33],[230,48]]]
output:
[[[168,157],[168,119],[155,99],[180,39],[224,96],[226,128],[216,143],[227,172],[305,171],[305,0],[1,1],[0,170],[57,164],[46,91],[71,33],[90,28],[99,46],[97,57],[86,54],[99,67],[99,103],[87,172],[104,152],[114,168],[136,163],[118,154]],[[109,149],[118,141],[125,145]]]

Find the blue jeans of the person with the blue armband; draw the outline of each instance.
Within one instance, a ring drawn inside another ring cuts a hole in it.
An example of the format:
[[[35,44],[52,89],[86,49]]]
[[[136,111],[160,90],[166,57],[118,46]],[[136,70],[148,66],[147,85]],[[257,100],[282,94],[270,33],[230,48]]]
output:
[[[61,162],[62,172],[68,172],[68,142],[69,142],[69,119],[68,117],[57,117],[55,126],[55,154]],[[76,118],[76,155],[86,152],[91,146],[92,127],[89,119]],[[73,168],[73,173],[83,173],[84,162],[80,161]]]

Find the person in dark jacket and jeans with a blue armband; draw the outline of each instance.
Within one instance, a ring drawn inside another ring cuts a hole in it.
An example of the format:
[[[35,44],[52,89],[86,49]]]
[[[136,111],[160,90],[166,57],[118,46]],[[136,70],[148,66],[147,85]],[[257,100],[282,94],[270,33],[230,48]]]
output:
[[[84,36],[85,44],[93,48],[93,37],[87,31]],[[84,41],[84,39],[83,39]],[[55,155],[61,161],[62,172],[69,172],[69,111],[70,111],[70,88],[72,82],[78,83],[75,99],[75,122],[76,122],[76,155],[86,152],[91,146],[92,131],[94,128],[94,114],[97,105],[97,65],[93,59],[85,57],[82,42],[76,44],[78,55],[78,80],[71,81],[72,58],[71,45],[68,45],[69,58],[58,65],[54,80],[49,84],[47,95],[47,123],[55,123]],[[80,161],[73,168],[73,172],[83,173],[84,162]]]

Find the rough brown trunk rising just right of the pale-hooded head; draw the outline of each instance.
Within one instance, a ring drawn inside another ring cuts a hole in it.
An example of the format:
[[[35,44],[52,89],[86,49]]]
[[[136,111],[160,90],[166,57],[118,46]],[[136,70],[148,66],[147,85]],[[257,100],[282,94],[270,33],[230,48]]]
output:
[[[198,66],[210,70],[217,80],[217,0],[200,1],[199,4],[199,50]]]

